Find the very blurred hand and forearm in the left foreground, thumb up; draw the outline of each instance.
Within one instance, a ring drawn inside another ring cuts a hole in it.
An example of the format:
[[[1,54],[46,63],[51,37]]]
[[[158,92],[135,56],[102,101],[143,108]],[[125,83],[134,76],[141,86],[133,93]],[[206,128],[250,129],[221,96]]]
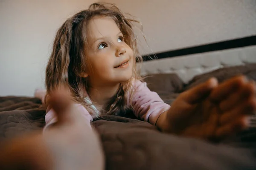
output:
[[[104,154],[96,133],[72,105],[67,91],[55,91],[49,104],[58,122],[44,131],[6,142],[0,169],[103,170]]]

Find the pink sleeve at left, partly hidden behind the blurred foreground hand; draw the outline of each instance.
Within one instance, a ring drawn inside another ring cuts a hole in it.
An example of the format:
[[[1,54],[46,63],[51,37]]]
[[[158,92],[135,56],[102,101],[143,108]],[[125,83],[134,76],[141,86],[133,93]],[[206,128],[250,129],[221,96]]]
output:
[[[90,113],[84,108],[84,106],[82,106],[80,104],[73,104],[73,105],[79,109],[80,113],[83,114],[84,123],[87,124],[91,128],[90,122],[93,121],[93,118],[90,115]],[[48,110],[48,108],[47,108],[47,110]],[[44,130],[47,129],[47,127],[49,127],[49,125],[52,125],[53,123],[55,123],[57,121],[58,121],[58,119],[57,119],[55,112],[52,109],[50,109],[45,115]]]

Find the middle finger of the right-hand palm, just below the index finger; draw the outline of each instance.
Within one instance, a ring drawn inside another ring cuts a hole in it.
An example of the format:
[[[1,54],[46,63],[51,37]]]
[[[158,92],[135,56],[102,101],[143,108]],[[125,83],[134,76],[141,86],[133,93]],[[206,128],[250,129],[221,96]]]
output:
[[[256,94],[254,82],[246,83],[238,92],[231,94],[219,104],[222,112],[228,111],[234,106],[239,105],[242,101],[252,98]]]

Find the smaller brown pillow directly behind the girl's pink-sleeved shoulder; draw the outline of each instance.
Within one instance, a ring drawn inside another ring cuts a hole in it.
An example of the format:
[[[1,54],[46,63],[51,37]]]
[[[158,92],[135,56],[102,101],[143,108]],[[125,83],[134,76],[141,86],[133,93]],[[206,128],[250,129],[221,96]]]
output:
[[[177,74],[151,74],[144,78],[151,91],[157,92],[160,96],[182,91],[183,82]]]

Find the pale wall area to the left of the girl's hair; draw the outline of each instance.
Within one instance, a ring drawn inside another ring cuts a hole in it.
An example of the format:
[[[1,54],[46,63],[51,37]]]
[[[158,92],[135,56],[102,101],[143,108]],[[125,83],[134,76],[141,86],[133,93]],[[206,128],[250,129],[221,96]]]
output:
[[[0,96],[32,96],[58,27],[93,0],[0,0]]]

